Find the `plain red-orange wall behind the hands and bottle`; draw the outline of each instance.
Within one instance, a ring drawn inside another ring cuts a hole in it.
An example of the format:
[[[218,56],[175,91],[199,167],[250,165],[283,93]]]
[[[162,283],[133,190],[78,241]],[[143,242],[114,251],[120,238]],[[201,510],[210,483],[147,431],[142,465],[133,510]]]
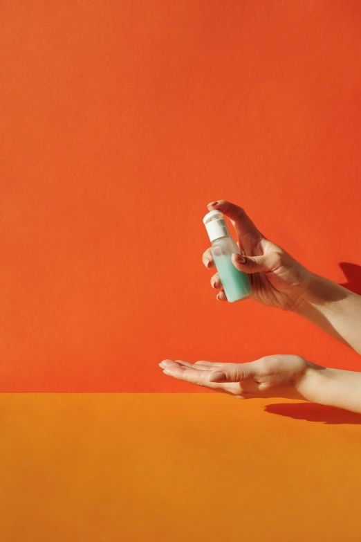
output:
[[[359,1],[0,15],[2,391],[194,391],[164,357],[360,367],[295,316],[216,302],[201,264],[205,205],[224,197],[360,288]]]

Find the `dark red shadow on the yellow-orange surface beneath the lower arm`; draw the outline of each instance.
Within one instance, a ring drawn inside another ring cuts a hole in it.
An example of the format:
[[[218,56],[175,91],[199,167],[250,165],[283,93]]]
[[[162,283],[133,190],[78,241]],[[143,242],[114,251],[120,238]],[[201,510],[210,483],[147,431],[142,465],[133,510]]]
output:
[[[315,403],[277,403],[266,405],[265,411],[293,419],[306,419],[307,422],[323,424],[349,424],[361,425],[361,414],[324,406]]]

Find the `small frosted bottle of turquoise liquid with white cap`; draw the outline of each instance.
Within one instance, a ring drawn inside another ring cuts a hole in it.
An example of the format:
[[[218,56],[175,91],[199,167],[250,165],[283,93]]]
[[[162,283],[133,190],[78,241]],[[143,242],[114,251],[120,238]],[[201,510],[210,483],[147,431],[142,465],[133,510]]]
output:
[[[203,218],[203,224],[212,242],[212,256],[221,279],[222,286],[231,303],[252,296],[250,278],[242,273],[232,262],[232,254],[240,254],[239,246],[230,236],[223,213],[214,210]]]

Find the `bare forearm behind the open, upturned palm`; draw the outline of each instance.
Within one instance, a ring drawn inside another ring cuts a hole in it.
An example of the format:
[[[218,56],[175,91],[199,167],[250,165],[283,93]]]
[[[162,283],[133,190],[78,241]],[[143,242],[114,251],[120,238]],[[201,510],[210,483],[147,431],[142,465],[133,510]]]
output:
[[[310,368],[299,385],[308,401],[361,414],[361,372]]]

